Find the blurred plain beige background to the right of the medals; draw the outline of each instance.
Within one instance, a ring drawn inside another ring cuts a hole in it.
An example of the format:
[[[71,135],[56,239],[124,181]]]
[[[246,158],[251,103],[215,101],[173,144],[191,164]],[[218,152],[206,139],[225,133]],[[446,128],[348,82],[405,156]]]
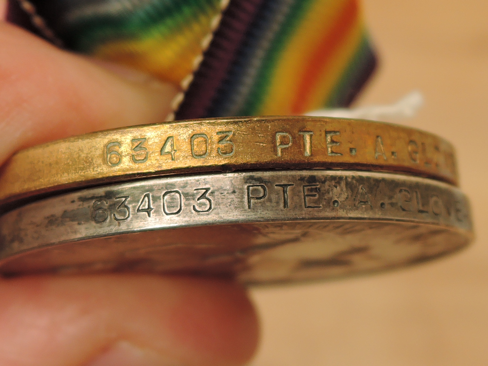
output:
[[[488,365],[488,1],[366,0],[382,66],[358,105],[418,89],[403,122],[457,148],[475,218],[464,252],[397,272],[255,289],[263,342],[253,366]]]

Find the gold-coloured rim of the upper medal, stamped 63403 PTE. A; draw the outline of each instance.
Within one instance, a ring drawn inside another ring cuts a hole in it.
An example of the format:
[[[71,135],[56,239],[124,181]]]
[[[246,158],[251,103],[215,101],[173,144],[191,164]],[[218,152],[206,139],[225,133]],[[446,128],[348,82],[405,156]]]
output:
[[[122,127],[21,150],[3,166],[0,204],[149,176],[277,168],[403,172],[458,182],[452,145],[418,129],[338,118],[221,118]]]

